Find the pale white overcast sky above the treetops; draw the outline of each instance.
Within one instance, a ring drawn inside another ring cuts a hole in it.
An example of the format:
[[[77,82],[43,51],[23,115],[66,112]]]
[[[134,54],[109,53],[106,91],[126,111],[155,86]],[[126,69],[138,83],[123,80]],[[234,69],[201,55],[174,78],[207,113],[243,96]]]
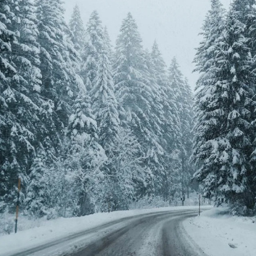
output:
[[[128,12],[136,19],[145,48],[151,49],[156,39],[166,64],[176,56],[182,72],[195,87],[198,74],[193,71],[194,48],[210,8],[210,0],[64,0],[66,19],[69,22],[74,5],[80,7],[84,26],[97,10],[104,26],[108,27],[112,44],[119,34],[122,20]],[[228,9],[230,0],[221,0]]]

